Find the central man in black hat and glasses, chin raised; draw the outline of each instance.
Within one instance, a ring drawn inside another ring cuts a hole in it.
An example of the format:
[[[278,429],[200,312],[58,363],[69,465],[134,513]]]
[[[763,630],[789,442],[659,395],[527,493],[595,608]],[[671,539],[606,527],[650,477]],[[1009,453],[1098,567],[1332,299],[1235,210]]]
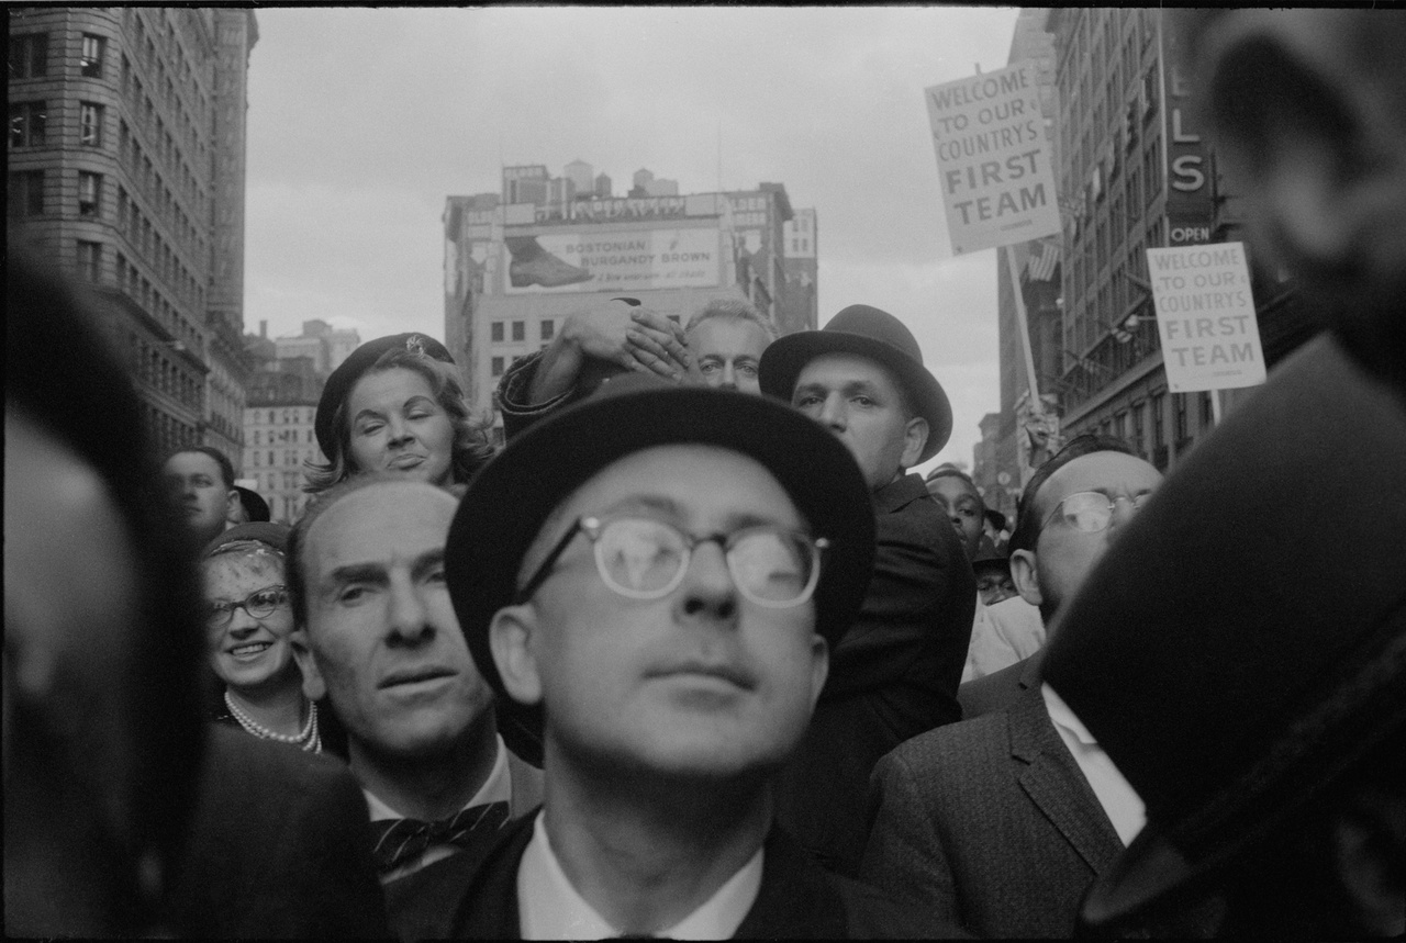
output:
[[[509,443],[446,568],[544,804],[489,853],[454,935],[928,930],[773,822],[872,559],[853,460],[761,396],[620,377]]]

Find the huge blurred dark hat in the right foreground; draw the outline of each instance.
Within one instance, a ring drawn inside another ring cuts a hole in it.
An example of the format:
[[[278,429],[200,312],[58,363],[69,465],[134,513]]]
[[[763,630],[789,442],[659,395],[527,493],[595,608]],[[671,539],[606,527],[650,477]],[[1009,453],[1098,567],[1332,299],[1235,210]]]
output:
[[[1092,928],[1192,901],[1406,731],[1402,455],[1399,392],[1323,337],[1197,447],[1050,625],[1045,679],[1147,808],[1085,898]],[[1305,493],[1333,495],[1330,527]]]

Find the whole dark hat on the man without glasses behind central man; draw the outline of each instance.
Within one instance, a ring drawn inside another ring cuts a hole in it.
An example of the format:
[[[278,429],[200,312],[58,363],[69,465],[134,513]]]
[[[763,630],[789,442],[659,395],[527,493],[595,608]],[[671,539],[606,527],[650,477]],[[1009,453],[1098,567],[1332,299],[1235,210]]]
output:
[[[820,330],[801,330],[773,342],[762,354],[762,392],[790,402],[796,378],[821,354],[859,354],[891,370],[928,420],[928,441],[918,461],[936,455],[952,436],[952,405],[942,384],[922,365],[922,350],[912,332],[887,311],[849,305]]]

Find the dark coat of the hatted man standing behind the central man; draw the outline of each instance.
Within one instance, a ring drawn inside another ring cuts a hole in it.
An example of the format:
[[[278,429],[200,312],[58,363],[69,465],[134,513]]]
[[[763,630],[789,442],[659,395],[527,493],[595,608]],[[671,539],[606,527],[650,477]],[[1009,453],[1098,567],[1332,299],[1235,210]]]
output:
[[[875,575],[830,652],[810,729],[778,784],[778,821],[827,867],[859,871],[865,795],[879,757],[960,718],[956,693],[976,578],[956,530],[907,475],[875,492]]]

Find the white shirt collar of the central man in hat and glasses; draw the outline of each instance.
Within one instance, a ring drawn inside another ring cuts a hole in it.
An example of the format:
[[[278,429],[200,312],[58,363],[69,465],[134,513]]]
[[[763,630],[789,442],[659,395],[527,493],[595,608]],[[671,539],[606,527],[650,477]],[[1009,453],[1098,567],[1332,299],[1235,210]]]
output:
[[[599,940],[620,936],[576,892],[547,838],[546,818],[537,814],[533,836],[517,867],[517,919],[524,940]],[[681,922],[661,930],[675,940],[724,940],[737,933],[762,887],[762,849],[713,897]]]

